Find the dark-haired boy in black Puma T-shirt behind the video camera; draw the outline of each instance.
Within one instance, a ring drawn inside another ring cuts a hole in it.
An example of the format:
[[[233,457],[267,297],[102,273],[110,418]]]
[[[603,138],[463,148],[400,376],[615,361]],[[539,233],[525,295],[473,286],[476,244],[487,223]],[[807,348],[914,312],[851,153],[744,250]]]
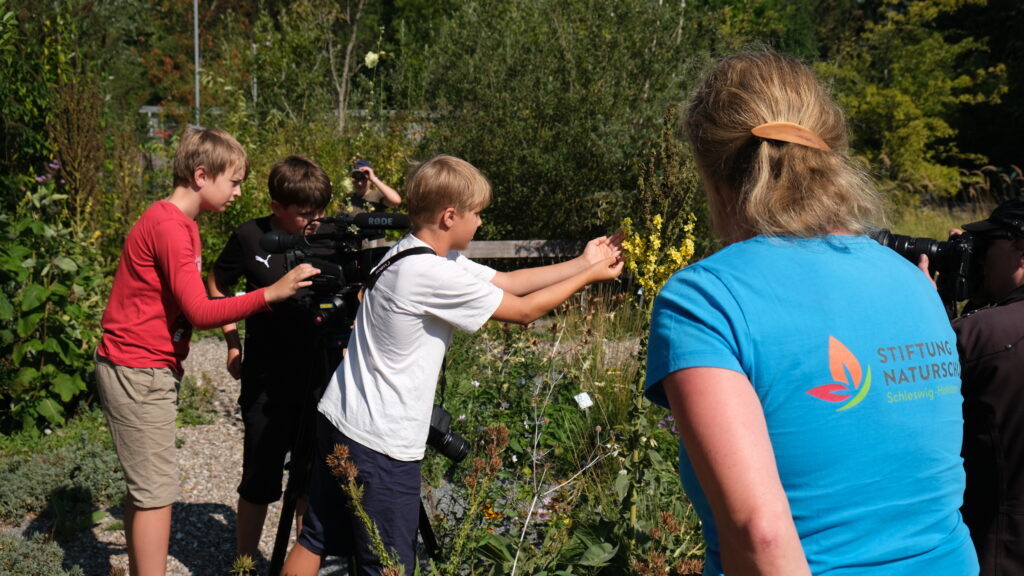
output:
[[[271,213],[231,233],[207,278],[210,295],[224,296],[241,278],[246,280],[246,291],[252,292],[285,276],[285,255],[266,252],[260,239],[273,230],[293,236],[316,232],[314,220],[324,216],[331,202],[327,172],[302,156],[274,164],[267,188]],[[243,355],[236,325],[223,326],[227,371],[242,378],[239,406],[245,440],[234,527],[240,557],[255,559],[259,552],[267,504],[281,499],[286,455],[292,452],[295,461],[294,451],[305,449],[295,446],[296,437],[304,419],[312,425],[315,395],[327,383],[330,369],[325,367],[325,342],[313,327],[312,312],[306,306],[294,300],[280,302],[246,321]],[[297,531],[301,531],[304,507],[303,501],[297,502]]]

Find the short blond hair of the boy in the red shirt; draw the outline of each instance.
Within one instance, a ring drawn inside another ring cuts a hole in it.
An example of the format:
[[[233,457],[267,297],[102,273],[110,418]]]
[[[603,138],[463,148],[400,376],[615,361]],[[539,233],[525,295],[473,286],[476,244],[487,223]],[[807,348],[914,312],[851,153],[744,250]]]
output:
[[[174,186],[194,183],[196,169],[202,166],[212,177],[217,177],[233,167],[245,169],[249,176],[249,157],[246,151],[227,132],[217,128],[188,128],[181,136],[174,153]]]

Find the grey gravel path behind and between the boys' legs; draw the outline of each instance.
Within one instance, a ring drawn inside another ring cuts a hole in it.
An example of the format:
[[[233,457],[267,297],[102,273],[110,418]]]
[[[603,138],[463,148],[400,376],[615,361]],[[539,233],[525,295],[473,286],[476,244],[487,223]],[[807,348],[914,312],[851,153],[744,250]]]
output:
[[[234,506],[242,474],[242,420],[239,382],[224,368],[224,343],[216,338],[194,342],[184,363],[185,375],[216,389],[220,417],[213,424],[178,428],[181,490],[171,523],[169,576],[226,576],[234,553]],[[87,576],[109,576],[112,568],[128,569],[120,506],[90,532],[65,545],[65,565],[82,567]],[[281,517],[270,505],[260,541],[258,574],[266,574]],[[293,536],[294,541],[294,536]],[[321,576],[345,575],[344,562],[330,559]]]

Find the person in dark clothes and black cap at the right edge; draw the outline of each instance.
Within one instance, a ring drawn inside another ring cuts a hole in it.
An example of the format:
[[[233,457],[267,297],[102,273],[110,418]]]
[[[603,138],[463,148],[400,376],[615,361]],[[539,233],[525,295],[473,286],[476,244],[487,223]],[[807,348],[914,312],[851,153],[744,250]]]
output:
[[[1024,574],[1024,199],[966,224],[982,305],[953,321],[964,394],[964,521],[983,576]]]

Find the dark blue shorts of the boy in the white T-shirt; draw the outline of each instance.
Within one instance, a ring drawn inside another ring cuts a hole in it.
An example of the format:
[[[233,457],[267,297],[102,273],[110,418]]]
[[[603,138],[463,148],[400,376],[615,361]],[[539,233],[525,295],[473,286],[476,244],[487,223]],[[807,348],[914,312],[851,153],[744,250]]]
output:
[[[376,576],[381,572],[369,534],[358,525],[348,497],[325,461],[335,444],[348,446],[349,457],[359,469],[356,478],[364,489],[362,507],[377,526],[384,547],[396,551],[406,574],[413,574],[420,519],[420,461],[395,460],[353,442],[318,413],[309,508],[299,543],[322,557],[354,557],[360,574]]]

